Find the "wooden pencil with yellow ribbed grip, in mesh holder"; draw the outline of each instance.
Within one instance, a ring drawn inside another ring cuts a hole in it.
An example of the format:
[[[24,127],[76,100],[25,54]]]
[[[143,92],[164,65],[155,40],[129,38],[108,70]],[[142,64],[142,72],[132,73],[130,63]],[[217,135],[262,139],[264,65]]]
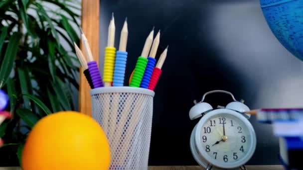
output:
[[[108,39],[107,47],[105,48],[104,55],[104,85],[106,87],[112,86],[113,77],[114,77],[114,67],[115,67],[115,57],[116,57],[116,48],[115,46],[115,18],[114,13],[112,13],[112,19],[108,26]]]

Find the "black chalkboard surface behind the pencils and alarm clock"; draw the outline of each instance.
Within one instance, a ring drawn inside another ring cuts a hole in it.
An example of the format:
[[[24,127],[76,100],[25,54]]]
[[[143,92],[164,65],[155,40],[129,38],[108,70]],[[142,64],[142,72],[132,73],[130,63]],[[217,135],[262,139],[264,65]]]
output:
[[[258,0],[101,0],[102,57],[112,12],[116,47],[128,17],[127,77],[152,26],[161,29],[158,53],[169,45],[155,89],[150,165],[197,165],[189,136],[198,120],[190,121],[188,111],[207,91],[228,90],[251,109],[302,106],[303,63],[272,34]],[[231,99],[210,95],[206,101],[216,107]],[[272,127],[250,121],[258,143],[248,164],[280,164]]]

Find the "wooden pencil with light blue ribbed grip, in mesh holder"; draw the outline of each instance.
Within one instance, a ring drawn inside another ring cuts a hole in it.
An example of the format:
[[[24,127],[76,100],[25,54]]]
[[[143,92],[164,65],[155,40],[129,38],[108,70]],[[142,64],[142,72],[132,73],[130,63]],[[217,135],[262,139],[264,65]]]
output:
[[[121,30],[119,50],[116,53],[113,86],[124,85],[125,69],[128,55],[126,52],[128,34],[129,32],[127,18],[125,18],[123,28]]]

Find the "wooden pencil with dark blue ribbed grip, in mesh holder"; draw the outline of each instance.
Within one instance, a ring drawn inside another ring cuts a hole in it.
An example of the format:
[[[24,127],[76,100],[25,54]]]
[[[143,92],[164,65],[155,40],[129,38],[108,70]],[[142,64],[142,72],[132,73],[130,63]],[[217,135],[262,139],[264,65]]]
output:
[[[140,87],[143,87],[143,88],[148,88],[149,87],[149,84],[150,84],[150,81],[151,81],[151,78],[152,78],[152,71],[153,71],[153,68],[154,68],[154,65],[155,65],[155,62],[156,62],[154,57],[155,57],[155,54],[157,52],[159,43],[160,43],[160,30],[158,31],[157,35],[153,39],[152,49],[151,49],[150,55],[148,57],[148,63],[147,63],[147,66],[145,68],[145,72],[144,72]]]

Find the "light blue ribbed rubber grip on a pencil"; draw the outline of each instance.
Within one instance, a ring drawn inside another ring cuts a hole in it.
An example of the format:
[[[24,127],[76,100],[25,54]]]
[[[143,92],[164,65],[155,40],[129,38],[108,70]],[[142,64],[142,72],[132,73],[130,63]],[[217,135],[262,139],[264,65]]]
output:
[[[127,54],[128,53],[125,51],[116,52],[113,86],[123,86],[124,85]]]

